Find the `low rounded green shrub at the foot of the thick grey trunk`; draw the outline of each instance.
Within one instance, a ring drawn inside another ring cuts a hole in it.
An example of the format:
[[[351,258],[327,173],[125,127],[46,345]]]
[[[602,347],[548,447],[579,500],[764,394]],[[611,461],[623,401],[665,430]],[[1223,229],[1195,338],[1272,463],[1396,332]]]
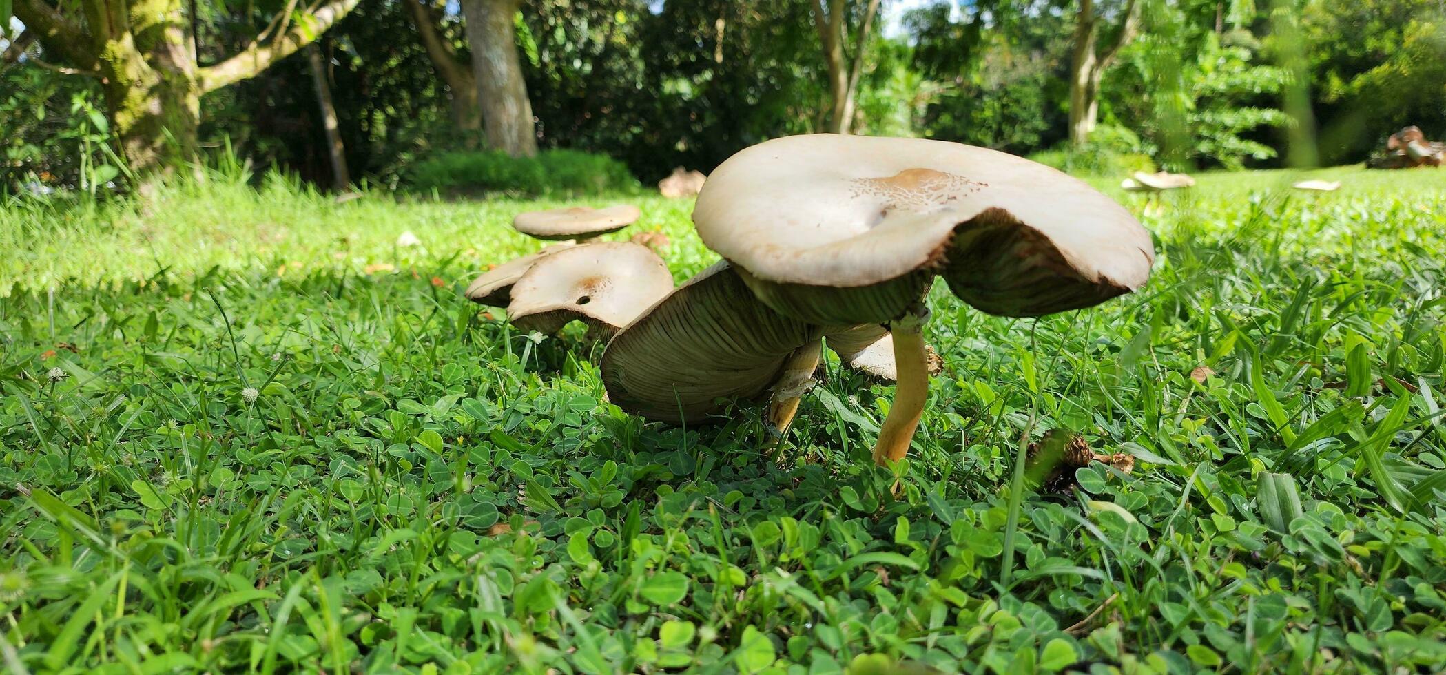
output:
[[[542,150],[535,158],[512,158],[497,150],[451,150],[412,166],[409,184],[415,189],[448,194],[590,195],[636,188],[638,179],[616,159],[577,150]]]

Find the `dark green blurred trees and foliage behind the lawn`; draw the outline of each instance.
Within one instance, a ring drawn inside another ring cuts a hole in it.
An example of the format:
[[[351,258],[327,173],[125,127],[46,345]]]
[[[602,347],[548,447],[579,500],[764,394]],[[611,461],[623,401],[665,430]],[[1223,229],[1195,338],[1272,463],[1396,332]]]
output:
[[[321,185],[338,179],[331,147],[343,184],[538,194],[707,172],[750,143],[829,130],[957,140],[1102,175],[1353,163],[1404,124],[1446,134],[1439,0],[169,1],[201,68],[265,46],[259,35],[276,42],[278,22],[343,9],[305,48],[318,58],[197,90],[195,147],[182,156],[228,150]],[[0,189],[124,185],[136,162],[116,142],[104,68],[23,22],[54,12],[84,29],[84,12],[13,3]],[[493,4],[515,7],[508,46],[539,160],[489,152],[500,146],[477,114],[497,97],[479,104],[477,78],[490,75],[473,68],[466,16]],[[334,139],[314,84],[328,90]]]

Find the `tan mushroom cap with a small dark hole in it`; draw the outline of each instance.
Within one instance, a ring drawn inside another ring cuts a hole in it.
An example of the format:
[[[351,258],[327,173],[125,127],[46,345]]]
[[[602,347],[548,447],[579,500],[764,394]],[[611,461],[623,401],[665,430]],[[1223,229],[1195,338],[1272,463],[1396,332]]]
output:
[[[542,256],[512,285],[508,321],[557,332],[578,319],[612,335],[672,291],[672,273],[646,246],[600,241]]]

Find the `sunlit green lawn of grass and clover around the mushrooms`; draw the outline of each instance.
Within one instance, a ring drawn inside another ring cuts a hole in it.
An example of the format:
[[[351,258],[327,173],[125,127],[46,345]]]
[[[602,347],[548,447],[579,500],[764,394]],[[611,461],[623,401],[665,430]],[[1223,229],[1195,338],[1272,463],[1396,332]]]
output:
[[[580,331],[461,301],[555,202],[213,176],[7,205],[0,661],[1440,671],[1446,181],[1325,173],[1346,188],[1202,176],[1145,220],[1150,286],[1100,308],[1009,321],[937,288],[947,371],[898,500],[868,460],[891,387],[830,363],[774,461],[756,409],[646,425]],[[638,202],[617,238],[662,228],[680,279],[711,262],[688,202]],[[1135,471],[1011,490],[1051,428]]]

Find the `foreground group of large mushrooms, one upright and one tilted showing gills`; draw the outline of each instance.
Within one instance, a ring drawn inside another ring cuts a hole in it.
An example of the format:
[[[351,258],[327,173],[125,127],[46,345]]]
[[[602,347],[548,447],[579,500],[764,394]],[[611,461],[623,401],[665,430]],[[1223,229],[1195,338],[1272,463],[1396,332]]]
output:
[[[898,382],[878,464],[905,457],[924,410],[934,278],[985,312],[1041,317],[1132,292],[1154,263],[1150,234],[1084,182],[936,140],[769,140],[709,176],[693,220],[724,262],[616,332],[602,363],[609,399],[697,424],[720,399],[768,392],[784,428],[827,344]]]

